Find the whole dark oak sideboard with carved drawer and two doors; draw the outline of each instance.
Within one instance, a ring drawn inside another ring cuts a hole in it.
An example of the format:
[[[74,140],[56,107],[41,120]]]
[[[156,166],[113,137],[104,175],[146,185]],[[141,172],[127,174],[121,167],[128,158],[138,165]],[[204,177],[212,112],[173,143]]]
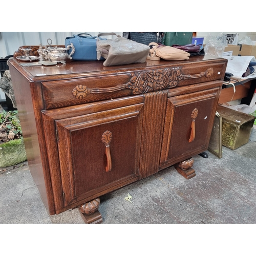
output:
[[[100,196],[172,165],[196,175],[226,59],[22,63],[8,60],[30,172],[50,215],[78,207],[86,223],[100,223]]]

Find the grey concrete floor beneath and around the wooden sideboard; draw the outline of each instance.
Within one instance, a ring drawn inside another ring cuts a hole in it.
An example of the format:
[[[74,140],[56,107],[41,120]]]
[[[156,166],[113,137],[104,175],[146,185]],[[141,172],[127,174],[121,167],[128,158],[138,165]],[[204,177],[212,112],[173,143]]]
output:
[[[194,157],[196,176],[174,167],[101,197],[106,223],[256,223],[256,142],[223,157]],[[127,194],[132,203],[124,200]],[[78,209],[49,216],[27,162],[0,174],[0,223],[84,223]]]

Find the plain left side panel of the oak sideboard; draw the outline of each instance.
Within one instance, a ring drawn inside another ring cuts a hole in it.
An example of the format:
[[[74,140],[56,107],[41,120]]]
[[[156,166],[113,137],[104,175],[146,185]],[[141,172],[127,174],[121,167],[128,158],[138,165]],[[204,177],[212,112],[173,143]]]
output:
[[[9,65],[13,90],[22,126],[26,154],[30,173],[39,190],[42,201],[51,215],[55,214],[51,178],[48,172],[45,144],[41,129],[40,109],[42,109],[41,91],[38,84],[33,83],[20,75],[20,73]],[[39,138],[41,138],[39,142]],[[39,145],[40,144],[40,145]]]

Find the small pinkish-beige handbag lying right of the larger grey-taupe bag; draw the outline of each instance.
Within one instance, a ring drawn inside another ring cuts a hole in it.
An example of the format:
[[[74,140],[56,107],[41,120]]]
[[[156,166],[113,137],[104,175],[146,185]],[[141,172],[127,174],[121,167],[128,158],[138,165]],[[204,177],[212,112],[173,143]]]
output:
[[[147,56],[147,58],[151,60],[159,60],[160,58],[165,60],[185,60],[189,59],[190,56],[190,53],[171,46],[159,46],[155,42],[151,42],[150,46],[151,45],[152,49]]]

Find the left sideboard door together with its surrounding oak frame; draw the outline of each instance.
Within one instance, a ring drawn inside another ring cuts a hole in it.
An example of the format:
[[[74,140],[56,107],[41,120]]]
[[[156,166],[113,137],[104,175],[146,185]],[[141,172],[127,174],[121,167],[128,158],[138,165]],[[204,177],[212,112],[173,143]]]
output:
[[[56,212],[139,179],[142,100],[138,96],[43,112]],[[141,103],[129,105],[133,101]],[[120,107],[111,109],[113,102]]]

